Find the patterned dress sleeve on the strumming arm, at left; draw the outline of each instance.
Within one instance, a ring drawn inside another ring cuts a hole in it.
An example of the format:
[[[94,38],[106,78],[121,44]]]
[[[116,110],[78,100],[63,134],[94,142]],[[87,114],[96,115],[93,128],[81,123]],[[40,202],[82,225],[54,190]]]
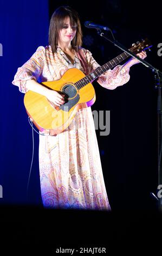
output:
[[[37,81],[42,74],[44,57],[45,48],[43,46],[39,46],[33,56],[31,56],[31,58],[21,66],[21,68],[17,69],[12,84],[18,86],[21,93],[26,93],[28,91],[26,87],[27,80],[34,79]]]

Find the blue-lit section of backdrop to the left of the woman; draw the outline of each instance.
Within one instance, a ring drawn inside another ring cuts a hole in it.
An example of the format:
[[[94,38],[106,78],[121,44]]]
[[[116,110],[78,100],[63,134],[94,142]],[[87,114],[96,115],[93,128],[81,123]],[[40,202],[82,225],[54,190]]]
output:
[[[48,1],[1,1],[1,173],[3,199],[0,203],[26,202],[27,182],[32,156],[32,134],[23,107],[24,94],[12,85],[17,68],[22,66],[40,45],[48,43]],[[35,136],[37,156],[38,137]],[[39,203],[38,160],[29,184],[29,202]],[[34,191],[34,192],[33,192]],[[37,198],[35,200],[35,198]],[[36,201],[36,202],[35,202]]]

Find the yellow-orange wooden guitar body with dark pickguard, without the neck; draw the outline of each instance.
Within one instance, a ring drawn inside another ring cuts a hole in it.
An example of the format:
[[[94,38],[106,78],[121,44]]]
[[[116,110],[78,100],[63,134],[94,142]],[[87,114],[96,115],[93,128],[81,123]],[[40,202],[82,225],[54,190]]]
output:
[[[85,77],[79,69],[69,69],[60,80],[43,82],[51,90],[65,95],[65,103],[60,107],[50,102],[47,97],[28,91],[24,96],[26,111],[38,130],[49,135],[57,135],[64,131],[72,122],[80,108],[92,106],[95,102],[95,90],[92,83],[82,88],[74,83]]]

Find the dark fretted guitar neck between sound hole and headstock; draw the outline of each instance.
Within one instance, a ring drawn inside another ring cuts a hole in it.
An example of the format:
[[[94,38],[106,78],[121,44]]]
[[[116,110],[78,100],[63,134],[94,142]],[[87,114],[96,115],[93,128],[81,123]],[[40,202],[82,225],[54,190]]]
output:
[[[130,49],[129,49],[130,50]],[[88,83],[92,83],[96,78],[101,76],[103,73],[108,71],[109,69],[114,68],[114,66],[118,65],[122,60],[129,57],[129,54],[124,52],[120,54],[119,56],[112,59],[110,62],[107,62],[106,64],[99,66],[99,68],[95,69],[93,72],[91,72],[89,75],[85,76],[81,80],[77,81],[75,83],[75,86],[77,89],[81,89],[82,87],[86,86]]]

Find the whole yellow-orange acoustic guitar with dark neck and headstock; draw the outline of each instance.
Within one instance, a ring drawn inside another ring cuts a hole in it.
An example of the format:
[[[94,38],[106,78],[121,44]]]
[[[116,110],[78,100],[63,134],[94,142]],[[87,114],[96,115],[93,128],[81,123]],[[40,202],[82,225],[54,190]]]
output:
[[[145,39],[133,44],[129,51],[137,54],[151,46],[151,42]],[[64,73],[60,80],[42,82],[41,84],[47,88],[65,95],[65,102],[60,107],[54,105],[47,97],[29,90],[24,96],[24,106],[30,120],[38,130],[51,136],[68,129],[76,112],[80,108],[92,106],[95,102],[95,90],[92,82],[128,57],[129,54],[124,52],[87,76],[81,70],[71,68]]]

